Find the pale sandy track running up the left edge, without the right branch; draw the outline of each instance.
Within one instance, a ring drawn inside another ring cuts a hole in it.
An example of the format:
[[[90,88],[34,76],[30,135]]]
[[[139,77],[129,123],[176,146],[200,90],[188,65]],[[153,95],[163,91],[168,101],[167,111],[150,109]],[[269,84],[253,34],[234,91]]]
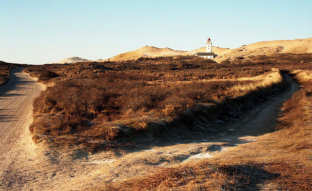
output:
[[[32,122],[33,99],[43,89],[37,79],[20,68],[13,69],[9,82],[0,87],[0,189],[18,189],[23,184],[16,169],[27,166],[27,156],[33,154],[28,126]]]

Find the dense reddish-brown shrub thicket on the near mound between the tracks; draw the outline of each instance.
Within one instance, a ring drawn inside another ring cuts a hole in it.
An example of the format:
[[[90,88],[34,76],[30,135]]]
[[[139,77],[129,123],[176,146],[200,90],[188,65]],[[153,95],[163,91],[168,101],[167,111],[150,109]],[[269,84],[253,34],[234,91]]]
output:
[[[232,97],[232,87],[249,83],[248,80],[221,80],[151,85],[142,79],[133,80],[132,75],[69,78],[56,81],[55,86],[42,92],[34,101],[34,113],[52,115],[47,120],[49,125],[45,126],[64,134],[93,128],[88,121],[108,124],[146,116],[151,120],[176,117],[186,108]],[[132,124],[134,128],[144,128],[144,125]]]

